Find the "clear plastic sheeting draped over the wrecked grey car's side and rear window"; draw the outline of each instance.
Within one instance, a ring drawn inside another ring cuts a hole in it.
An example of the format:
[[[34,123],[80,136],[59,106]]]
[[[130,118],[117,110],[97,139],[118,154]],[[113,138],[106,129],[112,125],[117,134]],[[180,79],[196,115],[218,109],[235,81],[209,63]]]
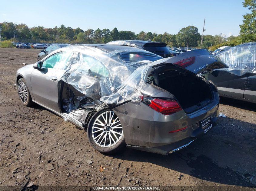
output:
[[[62,52],[55,54],[60,54],[55,65],[51,65],[48,59],[43,62],[43,65],[55,68],[48,78],[54,77],[70,84],[92,99],[92,105],[139,100],[152,66],[165,60],[134,49],[109,53],[92,46],[67,46],[60,50]]]

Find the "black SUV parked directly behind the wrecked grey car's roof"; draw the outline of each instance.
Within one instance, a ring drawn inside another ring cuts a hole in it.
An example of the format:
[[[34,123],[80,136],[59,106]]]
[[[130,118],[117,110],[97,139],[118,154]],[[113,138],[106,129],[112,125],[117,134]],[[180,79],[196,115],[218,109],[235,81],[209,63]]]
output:
[[[145,40],[116,40],[111,41],[107,44],[133,46],[139,49],[147,50],[163,58],[171,57],[171,53],[166,47],[166,43],[158,43]]]

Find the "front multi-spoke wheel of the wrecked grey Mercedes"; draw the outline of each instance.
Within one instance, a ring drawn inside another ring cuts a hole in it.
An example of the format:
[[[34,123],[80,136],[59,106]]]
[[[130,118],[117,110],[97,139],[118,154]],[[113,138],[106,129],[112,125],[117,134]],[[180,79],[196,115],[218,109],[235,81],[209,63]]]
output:
[[[30,106],[32,104],[32,98],[29,94],[28,87],[23,78],[20,78],[18,81],[17,91],[22,104],[25,106]]]

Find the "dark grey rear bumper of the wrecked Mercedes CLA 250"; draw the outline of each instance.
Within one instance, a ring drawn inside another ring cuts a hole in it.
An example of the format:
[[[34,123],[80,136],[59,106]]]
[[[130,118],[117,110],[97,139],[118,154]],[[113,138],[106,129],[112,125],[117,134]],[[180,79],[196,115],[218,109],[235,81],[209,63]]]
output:
[[[215,99],[210,104],[189,114],[182,110],[166,116],[140,101],[128,102],[113,110],[123,126],[127,147],[168,154],[204,135],[204,130],[196,125],[201,120],[210,116],[211,121],[215,121],[212,125],[217,125],[219,98],[217,92],[214,94]],[[169,133],[184,127],[187,128]]]

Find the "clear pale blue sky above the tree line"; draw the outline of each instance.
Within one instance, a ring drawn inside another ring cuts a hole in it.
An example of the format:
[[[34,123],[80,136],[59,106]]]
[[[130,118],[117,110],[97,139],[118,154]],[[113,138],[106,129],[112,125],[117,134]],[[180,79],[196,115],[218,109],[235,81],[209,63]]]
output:
[[[194,25],[204,35],[239,35],[243,15],[249,13],[242,0],[0,0],[0,23],[27,24],[28,27],[66,27],[101,30],[141,30],[177,34]]]

